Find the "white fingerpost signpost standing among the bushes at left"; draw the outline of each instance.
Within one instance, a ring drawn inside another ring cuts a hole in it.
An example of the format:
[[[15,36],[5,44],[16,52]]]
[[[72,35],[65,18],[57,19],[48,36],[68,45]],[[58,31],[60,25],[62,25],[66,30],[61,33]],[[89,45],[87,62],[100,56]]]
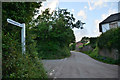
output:
[[[21,43],[22,43],[22,53],[25,53],[25,23],[18,23],[12,19],[7,19],[8,23],[21,27]]]

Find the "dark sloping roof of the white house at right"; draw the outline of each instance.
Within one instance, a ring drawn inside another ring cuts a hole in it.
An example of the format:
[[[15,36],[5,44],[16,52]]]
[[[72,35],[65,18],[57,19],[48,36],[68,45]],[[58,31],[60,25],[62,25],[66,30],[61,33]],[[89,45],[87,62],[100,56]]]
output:
[[[102,27],[101,27],[102,24],[110,23],[110,22],[114,22],[114,21],[119,21],[119,20],[120,20],[120,13],[111,14],[110,16],[108,16],[104,21],[102,21],[99,24],[100,32],[102,32]]]

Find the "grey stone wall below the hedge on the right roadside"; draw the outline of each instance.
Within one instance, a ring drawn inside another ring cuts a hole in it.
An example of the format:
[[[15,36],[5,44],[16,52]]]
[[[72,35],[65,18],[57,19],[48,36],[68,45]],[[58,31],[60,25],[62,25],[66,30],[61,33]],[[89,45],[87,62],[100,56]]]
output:
[[[114,60],[117,60],[119,58],[119,53],[117,49],[111,49],[111,51],[105,48],[99,49],[98,54],[101,56],[110,57]]]

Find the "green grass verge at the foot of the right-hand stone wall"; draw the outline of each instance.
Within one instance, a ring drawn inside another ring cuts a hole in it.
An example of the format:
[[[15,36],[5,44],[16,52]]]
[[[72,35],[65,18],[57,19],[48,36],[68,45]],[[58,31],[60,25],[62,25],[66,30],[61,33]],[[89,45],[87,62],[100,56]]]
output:
[[[98,54],[98,47],[96,47],[93,51],[83,51],[83,53],[89,55],[91,58],[98,60],[100,62],[108,63],[108,64],[117,64],[119,60],[114,60],[112,58],[104,57]]]

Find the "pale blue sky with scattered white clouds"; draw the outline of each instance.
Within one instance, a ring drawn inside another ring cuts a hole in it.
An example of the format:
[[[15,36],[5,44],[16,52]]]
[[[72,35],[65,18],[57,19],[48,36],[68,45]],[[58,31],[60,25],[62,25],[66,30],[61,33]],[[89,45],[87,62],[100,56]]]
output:
[[[67,9],[73,14],[76,21],[86,23],[83,29],[74,28],[76,42],[82,37],[100,36],[99,23],[111,14],[118,12],[119,0],[47,0],[42,3],[40,11],[50,8],[50,12],[60,9]],[[40,12],[41,14],[41,12]]]

